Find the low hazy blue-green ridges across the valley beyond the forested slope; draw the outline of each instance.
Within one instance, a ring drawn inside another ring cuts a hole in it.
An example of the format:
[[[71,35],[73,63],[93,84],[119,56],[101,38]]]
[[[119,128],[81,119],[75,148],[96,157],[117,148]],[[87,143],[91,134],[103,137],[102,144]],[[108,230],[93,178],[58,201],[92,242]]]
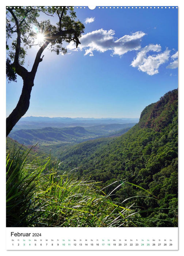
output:
[[[130,124],[108,124],[96,125],[92,127],[46,127],[42,129],[20,129],[12,131],[9,137],[17,140],[21,144],[38,146],[61,143],[79,143],[87,139],[94,139],[103,136],[119,136],[127,132],[135,123]],[[120,133],[116,132],[120,130]],[[54,147],[54,146],[53,146]],[[57,145],[58,147],[58,145]]]

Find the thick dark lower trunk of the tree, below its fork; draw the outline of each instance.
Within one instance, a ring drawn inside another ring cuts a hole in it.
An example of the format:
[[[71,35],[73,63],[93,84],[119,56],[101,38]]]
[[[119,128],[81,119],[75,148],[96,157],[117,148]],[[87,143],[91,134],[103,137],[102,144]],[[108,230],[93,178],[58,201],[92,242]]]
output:
[[[32,78],[32,76],[30,75],[27,75],[27,77],[23,79],[22,93],[20,95],[16,108],[6,118],[6,136],[8,136],[15,124],[27,112],[30,105],[32,86],[34,86],[34,78]]]

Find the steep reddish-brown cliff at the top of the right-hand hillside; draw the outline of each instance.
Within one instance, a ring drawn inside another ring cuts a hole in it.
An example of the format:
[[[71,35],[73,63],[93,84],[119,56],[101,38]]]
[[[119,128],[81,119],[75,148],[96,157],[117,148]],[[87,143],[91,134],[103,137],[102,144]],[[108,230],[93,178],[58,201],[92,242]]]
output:
[[[172,123],[177,115],[178,90],[166,93],[156,103],[147,106],[141,113],[139,127],[153,128],[162,131],[168,124]]]

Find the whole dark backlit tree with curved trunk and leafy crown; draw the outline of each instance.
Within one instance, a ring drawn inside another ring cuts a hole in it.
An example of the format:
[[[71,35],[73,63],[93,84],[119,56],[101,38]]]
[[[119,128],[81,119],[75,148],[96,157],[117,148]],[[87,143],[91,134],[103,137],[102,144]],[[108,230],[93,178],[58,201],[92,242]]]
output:
[[[56,16],[58,22],[55,25],[49,19],[38,22],[40,14],[47,15],[47,18]],[[39,63],[43,61],[44,55],[41,55],[46,47],[50,46],[51,52],[65,54],[67,49],[63,46],[64,42],[73,41],[76,48],[80,44],[79,38],[84,33],[84,25],[76,18],[73,7],[7,7],[6,75],[8,81],[15,82],[16,76],[21,76],[23,87],[15,109],[6,119],[6,136],[29,108],[34,78]],[[41,35],[42,38],[39,39],[38,36]],[[12,39],[11,44],[9,39]],[[24,58],[26,50],[34,45],[39,45],[40,48],[32,69],[28,72],[23,67]]]

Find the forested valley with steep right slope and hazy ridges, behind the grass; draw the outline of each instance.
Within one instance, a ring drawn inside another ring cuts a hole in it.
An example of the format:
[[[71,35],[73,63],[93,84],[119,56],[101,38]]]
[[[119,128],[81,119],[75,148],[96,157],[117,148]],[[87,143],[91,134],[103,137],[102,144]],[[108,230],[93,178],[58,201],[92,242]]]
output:
[[[23,129],[12,135],[22,144],[37,142],[34,152],[41,158],[60,159],[61,175],[100,182],[106,194],[115,189],[111,199],[139,212],[143,225],[177,226],[177,89],[143,109],[137,124]],[[12,143],[7,140],[7,149]]]

